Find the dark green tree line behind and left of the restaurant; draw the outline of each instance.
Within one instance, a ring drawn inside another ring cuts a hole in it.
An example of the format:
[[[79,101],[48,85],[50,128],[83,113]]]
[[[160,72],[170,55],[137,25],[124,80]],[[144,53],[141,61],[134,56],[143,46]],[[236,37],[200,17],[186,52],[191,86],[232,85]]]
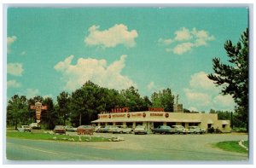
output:
[[[7,125],[28,125],[36,121],[35,110],[31,105],[40,101],[47,110],[41,113],[40,125],[45,129],[53,129],[55,125],[90,125],[90,121],[97,119],[102,112],[111,112],[113,108],[128,107],[130,112],[147,111],[148,107],[163,107],[165,111],[173,111],[174,95],[167,88],[154,92],[151,101],[148,96],[140,96],[133,86],[126,90],[103,88],[87,81],[81,88],[71,94],[63,91],[57,96],[56,102],[52,98],[35,96],[12,96],[7,106]]]

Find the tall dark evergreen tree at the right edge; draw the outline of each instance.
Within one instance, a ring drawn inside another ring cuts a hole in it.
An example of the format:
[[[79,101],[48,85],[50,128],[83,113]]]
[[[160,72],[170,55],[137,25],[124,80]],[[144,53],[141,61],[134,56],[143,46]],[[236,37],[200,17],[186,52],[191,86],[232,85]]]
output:
[[[224,64],[219,58],[214,58],[213,71],[208,78],[217,86],[222,86],[223,95],[234,98],[238,107],[236,113],[248,128],[248,29],[241,34],[240,41],[234,45],[230,40],[224,43],[224,49],[229,57],[229,64]]]

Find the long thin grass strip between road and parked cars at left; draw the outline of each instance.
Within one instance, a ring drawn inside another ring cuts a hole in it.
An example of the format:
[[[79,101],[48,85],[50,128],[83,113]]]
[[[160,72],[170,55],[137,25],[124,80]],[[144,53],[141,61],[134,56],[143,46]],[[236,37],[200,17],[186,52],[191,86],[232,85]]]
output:
[[[63,142],[108,142],[108,138],[100,136],[68,136],[68,135],[53,135],[42,132],[18,132],[7,131],[7,137],[32,139],[32,140],[52,140]]]

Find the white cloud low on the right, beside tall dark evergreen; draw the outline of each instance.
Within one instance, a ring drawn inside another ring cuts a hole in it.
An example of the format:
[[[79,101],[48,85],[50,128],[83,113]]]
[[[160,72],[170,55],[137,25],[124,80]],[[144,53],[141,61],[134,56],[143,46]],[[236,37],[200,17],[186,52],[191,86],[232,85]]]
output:
[[[184,90],[188,106],[209,111],[234,110],[235,101],[230,95],[220,95],[221,88],[216,87],[212,80],[207,78],[206,72],[197,72],[191,75],[189,87]]]

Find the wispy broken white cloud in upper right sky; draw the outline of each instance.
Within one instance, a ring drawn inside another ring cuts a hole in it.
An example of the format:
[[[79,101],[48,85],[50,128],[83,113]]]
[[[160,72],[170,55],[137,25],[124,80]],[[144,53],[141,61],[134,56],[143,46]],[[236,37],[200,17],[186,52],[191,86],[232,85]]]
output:
[[[198,31],[196,28],[193,28],[189,31],[186,27],[177,30],[174,32],[174,35],[174,38],[160,38],[158,42],[167,46],[166,52],[173,52],[176,55],[183,55],[193,48],[207,46],[209,41],[215,39],[214,36],[205,30]]]

